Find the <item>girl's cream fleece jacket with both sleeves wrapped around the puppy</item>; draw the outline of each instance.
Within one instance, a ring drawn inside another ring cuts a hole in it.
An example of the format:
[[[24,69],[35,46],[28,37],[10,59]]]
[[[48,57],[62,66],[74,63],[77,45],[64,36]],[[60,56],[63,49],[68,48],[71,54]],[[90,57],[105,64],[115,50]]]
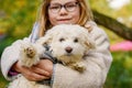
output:
[[[90,36],[96,41],[97,48],[96,51],[90,51],[84,58],[87,70],[84,74],[79,74],[62,64],[56,64],[54,67],[53,88],[101,88],[105,84],[112,62],[109,51],[109,40],[107,34],[96,23],[89,22],[89,24],[92,26]],[[30,37],[19,40],[3,51],[1,70],[6,79],[12,79],[12,77],[8,76],[8,72],[19,59],[20,43],[22,41],[35,42],[37,36],[38,30],[35,24]]]

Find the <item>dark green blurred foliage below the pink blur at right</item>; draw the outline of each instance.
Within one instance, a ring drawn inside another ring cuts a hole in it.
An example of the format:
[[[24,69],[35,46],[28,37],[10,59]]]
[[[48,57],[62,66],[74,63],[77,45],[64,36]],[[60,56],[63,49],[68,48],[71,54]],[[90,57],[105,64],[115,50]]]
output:
[[[132,52],[114,52],[112,56],[105,88],[132,88]]]

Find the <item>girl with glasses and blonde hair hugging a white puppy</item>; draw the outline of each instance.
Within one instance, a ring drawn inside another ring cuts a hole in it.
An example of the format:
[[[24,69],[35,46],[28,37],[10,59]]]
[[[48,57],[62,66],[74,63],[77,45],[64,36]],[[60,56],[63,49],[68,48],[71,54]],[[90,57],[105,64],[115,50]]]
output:
[[[87,28],[91,37],[96,41],[96,51],[90,51],[84,57],[85,64],[87,66],[92,66],[94,64],[95,69],[89,69],[81,75],[62,64],[53,65],[50,59],[41,59],[37,65],[31,68],[21,66],[18,62],[20,43],[22,41],[34,43],[48,29],[64,23],[79,24]],[[94,62],[94,59],[98,59],[98,62],[88,65],[88,62]],[[12,80],[13,77],[21,73],[25,78],[33,81],[52,78],[53,88],[101,88],[111,62],[112,57],[109,52],[107,34],[92,21],[87,0],[43,0],[40,16],[31,35],[14,42],[3,51],[1,69],[8,80]]]

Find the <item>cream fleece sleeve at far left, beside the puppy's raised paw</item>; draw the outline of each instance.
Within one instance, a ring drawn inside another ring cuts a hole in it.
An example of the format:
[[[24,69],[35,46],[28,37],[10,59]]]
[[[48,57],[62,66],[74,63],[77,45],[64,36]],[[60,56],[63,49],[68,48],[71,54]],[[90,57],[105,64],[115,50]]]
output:
[[[11,69],[12,65],[19,59],[19,53],[22,41],[29,41],[28,37],[24,40],[18,40],[16,42],[12,43],[12,45],[6,47],[1,55],[1,70],[7,80],[11,80],[9,70]]]

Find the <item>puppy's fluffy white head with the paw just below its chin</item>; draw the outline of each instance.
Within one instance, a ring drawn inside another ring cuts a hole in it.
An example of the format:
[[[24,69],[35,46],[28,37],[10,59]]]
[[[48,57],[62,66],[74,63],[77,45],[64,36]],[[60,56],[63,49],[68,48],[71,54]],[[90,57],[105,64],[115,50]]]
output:
[[[85,70],[81,63],[82,56],[90,48],[95,48],[95,42],[89,36],[87,29],[72,24],[54,26],[37,43],[48,45],[53,57],[79,73]]]

